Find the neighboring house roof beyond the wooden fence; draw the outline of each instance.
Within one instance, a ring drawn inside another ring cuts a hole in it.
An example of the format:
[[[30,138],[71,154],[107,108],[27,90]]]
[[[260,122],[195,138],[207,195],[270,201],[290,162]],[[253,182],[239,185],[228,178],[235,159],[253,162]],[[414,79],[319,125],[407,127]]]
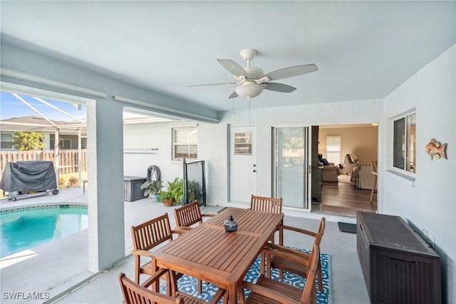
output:
[[[55,132],[58,128],[61,133],[77,133],[78,128],[81,128],[83,133],[87,133],[87,126],[78,121],[50,121],[57,127],[38,116],[14,117],[0,121],[0,130],[9,132]]]

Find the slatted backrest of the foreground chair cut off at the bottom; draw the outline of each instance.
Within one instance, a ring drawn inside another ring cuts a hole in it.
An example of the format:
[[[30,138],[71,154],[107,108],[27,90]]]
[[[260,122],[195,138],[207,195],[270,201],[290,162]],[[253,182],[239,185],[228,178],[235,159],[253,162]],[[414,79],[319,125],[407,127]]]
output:
[[[160,280],[160,276],[157,276],[157,280]],[[119,281],[125,304],[184,304],[183,298],[162,295],[149,290],[127,278],[125,273],[120,273]]]

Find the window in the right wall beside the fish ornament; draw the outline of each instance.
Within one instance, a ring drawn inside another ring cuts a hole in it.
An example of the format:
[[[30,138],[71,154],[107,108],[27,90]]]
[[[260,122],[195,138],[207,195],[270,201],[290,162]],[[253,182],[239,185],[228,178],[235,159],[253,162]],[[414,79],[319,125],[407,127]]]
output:
[[[393,121],[393,167],[416,172],[416,114]]]

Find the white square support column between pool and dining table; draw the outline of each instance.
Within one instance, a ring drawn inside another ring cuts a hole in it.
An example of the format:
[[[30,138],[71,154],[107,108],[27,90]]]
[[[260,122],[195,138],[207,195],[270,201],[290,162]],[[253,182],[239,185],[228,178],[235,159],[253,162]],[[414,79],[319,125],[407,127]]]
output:
[[[110,268],[125,256],[123,107],[100,98],[87,104],[89,269]]]

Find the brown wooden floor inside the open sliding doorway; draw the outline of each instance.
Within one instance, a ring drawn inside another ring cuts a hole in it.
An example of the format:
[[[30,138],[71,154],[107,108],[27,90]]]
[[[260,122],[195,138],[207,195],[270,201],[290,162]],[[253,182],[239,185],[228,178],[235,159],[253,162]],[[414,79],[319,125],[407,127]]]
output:
[[[371,190],[356,189],[351,183],[323,182],[321,202],[312,203],[312,210],[356,216],[356,211],[377,212],[377,194],[371,204]]]

